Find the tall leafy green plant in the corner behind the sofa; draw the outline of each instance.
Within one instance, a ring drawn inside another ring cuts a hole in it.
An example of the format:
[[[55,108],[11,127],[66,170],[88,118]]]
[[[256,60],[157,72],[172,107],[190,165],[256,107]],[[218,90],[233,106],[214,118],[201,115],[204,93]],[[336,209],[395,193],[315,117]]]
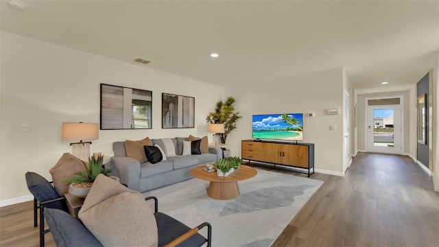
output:
[[[235,98],[228,97],[224,102],[219,100],[215,110],[206,117],[209,124],[224,124],[224,133],[219,134],[221,143],[226,143],[228,134],[235,130],[236,122],[241,118],[239,112],[235,112]]]

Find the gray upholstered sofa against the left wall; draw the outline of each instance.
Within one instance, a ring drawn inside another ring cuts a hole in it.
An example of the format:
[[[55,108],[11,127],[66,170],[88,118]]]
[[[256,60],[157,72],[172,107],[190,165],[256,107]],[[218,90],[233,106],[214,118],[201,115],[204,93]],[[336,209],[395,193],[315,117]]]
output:
[[[152,164],[149,161],[139,163],[126,154],[125,141],[116,141],[112,144],[115,156],[110,158],[112,175],[118,176],[121,183],[130,189],[140,192],[149,191],[165,185],[193,178],[189,173],[193,167],[215,163],[222,158],[221,148],[209,146],[209,153],[181,155],[185,137],[172,138],[177,156],[169,156],[166,161]],[[152,139],[152,143],[158,144],[162,150],[165,145],[162,139]]]

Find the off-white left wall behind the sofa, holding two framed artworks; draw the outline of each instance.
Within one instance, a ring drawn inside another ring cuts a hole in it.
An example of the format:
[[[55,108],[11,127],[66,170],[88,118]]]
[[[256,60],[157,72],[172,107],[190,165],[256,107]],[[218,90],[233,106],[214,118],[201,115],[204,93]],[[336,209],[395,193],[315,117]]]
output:
[[[152,91],[151,130],[99,131],[91,152],[109,156],[113,141],[208,134],[205,117],[224,97],[221,86],[1,32],[0,205],[29,196],[27,171],[51,180],[49,169],[71,152],[62,122],[99,123],[100,83]],[[162,130],[161,93],[195,97],[195,128]]]

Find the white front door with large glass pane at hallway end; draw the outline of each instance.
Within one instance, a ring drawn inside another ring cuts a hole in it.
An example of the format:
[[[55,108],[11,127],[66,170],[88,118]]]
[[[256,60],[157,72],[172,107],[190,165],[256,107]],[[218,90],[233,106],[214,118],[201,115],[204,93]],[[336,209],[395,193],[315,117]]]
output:
[[[401,154],[401,105],[368,106],[367,151]]]

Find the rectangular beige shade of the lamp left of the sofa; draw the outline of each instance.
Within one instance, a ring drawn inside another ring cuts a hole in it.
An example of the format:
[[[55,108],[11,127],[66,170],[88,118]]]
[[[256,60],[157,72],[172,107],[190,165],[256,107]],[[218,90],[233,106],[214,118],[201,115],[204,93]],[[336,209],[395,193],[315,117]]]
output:
[[[99,139],[97,124],[62,123],[62,140],[96,140]]]

